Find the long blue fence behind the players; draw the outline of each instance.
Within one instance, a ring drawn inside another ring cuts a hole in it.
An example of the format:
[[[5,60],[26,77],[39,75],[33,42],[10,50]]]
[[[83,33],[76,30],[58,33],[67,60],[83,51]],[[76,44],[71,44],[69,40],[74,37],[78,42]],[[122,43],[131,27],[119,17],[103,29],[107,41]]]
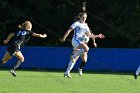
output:
[[[0,46],[0,58],[6,47]],[[72,48],[62,47],[24,47],[22,53],[25,62],[20,68],[65,69],[69,63]],[[12,58],[4,67],[12,67],[16,58]],[[80,65],[80,60],[74,69]],[[91,48],[88,53],[86,70],[134,71],[140,65],[140,49]]]

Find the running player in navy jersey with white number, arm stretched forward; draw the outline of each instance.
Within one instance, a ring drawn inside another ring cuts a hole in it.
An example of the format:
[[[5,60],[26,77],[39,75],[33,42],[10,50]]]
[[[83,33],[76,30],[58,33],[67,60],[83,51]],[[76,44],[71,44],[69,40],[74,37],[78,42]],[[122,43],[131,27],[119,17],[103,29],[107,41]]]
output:
[[[25,21],[21,25],[19,25],[20,30],[15,33],[10,33],[6,40],[3,41],[4,44],[7,44],[7,50],[2,58],[0,64],[6,63],[10,60],[13,56],[15,56],[18,61],[16,65],[10,70],[10,73],[16,77],[16,68],[24,62],[24,56],[21,53],[20,49],[23,47],[29,40],[31,36],[46,38],[46,34],[37,34],[32,32],[32,24],[30,21]]]

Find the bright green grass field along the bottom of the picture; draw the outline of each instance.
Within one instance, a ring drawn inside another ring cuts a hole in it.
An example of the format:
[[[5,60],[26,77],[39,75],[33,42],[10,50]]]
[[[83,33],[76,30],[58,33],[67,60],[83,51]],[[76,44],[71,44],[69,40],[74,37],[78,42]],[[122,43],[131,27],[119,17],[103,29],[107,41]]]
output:
[[[129,73],[72,72],[64,78],[63,71],[18,70],[13,77],[0,70],[0,93],[140,93],[140,78]]]

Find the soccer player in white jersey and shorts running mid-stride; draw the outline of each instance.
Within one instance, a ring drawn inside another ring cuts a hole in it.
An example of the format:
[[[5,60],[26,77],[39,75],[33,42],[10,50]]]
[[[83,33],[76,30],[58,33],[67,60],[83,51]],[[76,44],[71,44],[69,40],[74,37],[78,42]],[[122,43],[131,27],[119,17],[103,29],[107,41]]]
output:
[[[75,22],[67,30],[67,32],[65,33],[65,35],[63,36],[61,40],[62,42],[64,42],[67,36],[70,34],[70,32],[74,31],[74,35],[72,38],[72,46],[73,46],[74,52],[73,52],[73,55],[71,56],[71,60],[68,64],[68,68],[64,74],[65,77],[71,78],[70,71],[74,67],[75,62],[77,61],[79,56],[81,57],[83,56],[82,60],[84,60],[84,62],[87,61],[87,52],[89,51],[87,42],[89,38],[92,38],[92,39],[104,38],[104,35],[102,34],[99,34],[99,35],[91,34],[87,23],[85,23],[86,19],[87,19],[86,12],[79,13],[77,17],[75,18]]]

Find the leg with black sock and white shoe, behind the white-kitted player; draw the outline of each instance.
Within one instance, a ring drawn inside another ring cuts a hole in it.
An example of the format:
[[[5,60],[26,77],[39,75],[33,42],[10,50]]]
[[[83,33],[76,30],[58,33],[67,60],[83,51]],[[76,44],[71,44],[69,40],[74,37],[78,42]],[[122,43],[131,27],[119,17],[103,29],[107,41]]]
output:
[[[82,59],[82,62],[80,64],[80,67],[78,68],[79,71],[79,75],[82,76],[82,69],[85,66],[86,62],[87,62],[87,52],[85,52],[83,55],[80,56]]]

